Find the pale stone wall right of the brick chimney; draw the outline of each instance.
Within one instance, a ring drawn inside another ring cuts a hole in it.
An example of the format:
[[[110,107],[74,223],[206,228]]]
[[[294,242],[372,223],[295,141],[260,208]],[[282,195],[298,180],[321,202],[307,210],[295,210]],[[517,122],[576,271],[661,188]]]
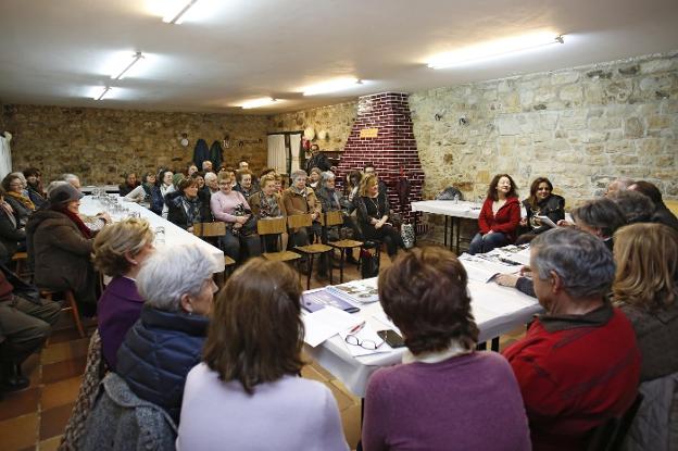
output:
[[[678,58],[653,55],[415,92],[425,197],[547,176],[568,208],[624,175],[678,197]],[[436,116],[438,114],[438,117]]]

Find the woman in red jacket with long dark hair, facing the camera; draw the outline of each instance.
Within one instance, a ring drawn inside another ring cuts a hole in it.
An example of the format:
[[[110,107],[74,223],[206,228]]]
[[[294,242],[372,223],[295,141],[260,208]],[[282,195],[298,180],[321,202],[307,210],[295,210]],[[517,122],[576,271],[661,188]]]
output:
[[[478,216],[480,231],[470,241],[468,253],[489,252],[515,241],[519,223],[520,203],[515,183],[508,174],[498,174],[490,183]]]

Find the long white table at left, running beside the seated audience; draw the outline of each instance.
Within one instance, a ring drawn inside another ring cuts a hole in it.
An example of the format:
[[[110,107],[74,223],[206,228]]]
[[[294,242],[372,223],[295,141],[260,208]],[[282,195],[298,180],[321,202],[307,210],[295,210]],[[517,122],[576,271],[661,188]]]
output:
[[[188,245],[201,247],[208,253],[214,256],[214,260],[216,261],[216,266],[214,267],[214,272],[221,273],[224,271],[225,268],[224,251],[210,245],[206,241],[201,240],[193,234],[190,234],[184,230],[181,227],[178,227],[172,224],[170,221],[163,218],[162,216],[156,215],[155,213],[151,212],[145,206],[141,206],[135,202],[123,202],[121,199],[122,199],[121,197],[117,197],[117,196],[115,197],[116,202],[121,204],[123,208],[125,208],[128,212],[121,212],[121,213],[109,212],[113,221],[120,221],[123,217],[129,216],[133,212],[137,212],[139,213],[139,216],[143,217],[150,223],[151,228],[153,230],[158,230],[159,227],[164,228],[165,230],[165,245],[164,246],[188,243]],[[80,213],[86,214],[86,215],[95,215],[102,211],[105,211],[105,206],[98,199],[95,199],[92,196],[85,196],[80,200]],[[187,268],[187,270],[190,270],[190,268]]]

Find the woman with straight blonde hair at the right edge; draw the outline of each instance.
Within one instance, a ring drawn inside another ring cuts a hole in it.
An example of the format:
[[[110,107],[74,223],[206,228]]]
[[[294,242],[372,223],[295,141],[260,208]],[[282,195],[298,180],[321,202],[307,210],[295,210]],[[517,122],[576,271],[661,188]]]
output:
[[[633,325],[642,354],[640,380],[678,372],[678,231],[663,224],[622,227],[614,235],[612,292]]]

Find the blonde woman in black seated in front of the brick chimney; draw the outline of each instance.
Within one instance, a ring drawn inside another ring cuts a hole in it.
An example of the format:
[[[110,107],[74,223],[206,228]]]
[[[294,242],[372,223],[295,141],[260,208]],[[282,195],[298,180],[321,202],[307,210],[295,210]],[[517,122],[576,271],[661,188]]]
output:
[[[404,249],[405,245],[398,229],[389,223],[389,201],[386,192],[379,191],[379,180],[374,173],[363,177],[357,195],[355,205],[363,238],[382,240],[393,259],[398,249]]]

